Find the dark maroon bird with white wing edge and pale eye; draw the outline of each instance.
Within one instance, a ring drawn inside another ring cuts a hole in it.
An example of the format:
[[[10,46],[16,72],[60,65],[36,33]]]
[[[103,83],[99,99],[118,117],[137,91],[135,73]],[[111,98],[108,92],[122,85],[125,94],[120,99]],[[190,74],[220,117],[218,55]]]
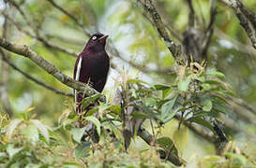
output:
[[[100,33],[92,35],[79,54],[74,68],[74,79],[90,84],[98,92],[103,90],[110,68],[109,56],[105,50],[107,37],[108,35]],[[82,100],[83,92],[75,91],[78,113],[84,110]]]

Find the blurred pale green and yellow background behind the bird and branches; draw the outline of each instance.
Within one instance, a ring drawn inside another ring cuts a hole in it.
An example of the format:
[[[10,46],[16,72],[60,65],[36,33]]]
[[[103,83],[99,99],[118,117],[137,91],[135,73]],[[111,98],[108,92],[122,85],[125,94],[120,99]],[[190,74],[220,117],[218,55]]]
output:
[[[11,20],[8,25],[8,39],[15,44],[25,44],[38,52],[44,59],[56,65],[63,73],[72,77],[75,57],[46,46],[40,40],[25,34],[36,35],[32,27],[38,30],[47,41],[64,49],[71,49],[76,53],[83,50],[88,35],[82,28],[66,14],[53,7],[44,0],[15,1],[20,4],[26,19],[15,7],[8,8]],[[113,100],[113,88],[116,81],[121,80],[119,72],[128,72],[130,77],[138,77],[152,84],[170,83],[173,76],[159,73],[161,70],[173,68],[174,60],[169,50],[166,49],[158,32],[143,16],[142,7],[136,1],[128,0],[62,0],[54,1],[65,8],[83,24],[84,30],[93,34],[101,32],[109,35],[107,51],[110,53],[112,63],[116,65],[111,69],[104,93],[109,100]],[[209,21],[209,1],[193,1],[201,25]],[[246,0],[243,3],[256,12],[256,1]],[[208,68],[216,68],[225,74],[237,95],[245,100],[252,108],[256,108],[256,49],[253,49],[243,28],[240,26],[233,10],[221,3],[218,5],[218,15],[215,30],[207,54]],[[157,0],[156,6],[164,23],[173,29],[177,35],[172,35],[173,40],[180,44],[177,36],[182,36],[188,29],[188,5],[182,0]],[[0,1],[0,34],[3,35],[5,17],[5,3]],[[15,26],[16,22],[22,30]],[[29,26],[31,23],[33,26]],[[2,36],[1,35],[1,36]],[[112,46],[120,51],[120,57],[110,50]],[[67,86],[40,69],[28,59],[10,53],[11,63],[16,64],[24,72],[36,77],[53,88],[72,92]],[[2,69],[3,62],[0,61]],[[136,68],[136,65],[140,68]],[[150,69],[150,70],[148,70]],[[2,78],[2,77],[1,77]],[[49,126],[57,126],[59,116],[74,105],[72,98],[55,94],[53,91],[38,86],[33,81],[23,77],[19,72],[9,67],[8,69],[8,96],[11,110],[15,117],[19,116],[27,107],[35,106],[34,118],[42,120]],[[233,106],[233,108],[237,108]],[[242,115],[238,116],[232,111],[229,119],[241,132],[231,133],[232,139],[238,147],[243,148],[255,159],[256,155],[256,128],[255,114],[248,110],[239,109]],[[1,113],[5,107],[0,104]],[[249,119],[249,120],[248,120]],[[147,124],[147,123],[146,123]],[[165,126],[163,134],[172,135],[178,122],[172,120]],[[197,167],[199,158],[215,154],[214,146],[202,137],[190,132],[185,136],[188,143],[182,150],[182,157],[189,164],[188,167]],[[138,139],[132,143],[133,147],[143,148],[143,142]]]

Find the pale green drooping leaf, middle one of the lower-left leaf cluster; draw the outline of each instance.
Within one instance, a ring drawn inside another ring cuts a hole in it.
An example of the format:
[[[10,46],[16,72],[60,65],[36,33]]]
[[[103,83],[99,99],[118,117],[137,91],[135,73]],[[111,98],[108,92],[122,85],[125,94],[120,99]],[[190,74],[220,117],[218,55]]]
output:
[[[22,130],[22,133],[33,145],[36,145],[39,140],[39,133],[35,125],[28,125]]]

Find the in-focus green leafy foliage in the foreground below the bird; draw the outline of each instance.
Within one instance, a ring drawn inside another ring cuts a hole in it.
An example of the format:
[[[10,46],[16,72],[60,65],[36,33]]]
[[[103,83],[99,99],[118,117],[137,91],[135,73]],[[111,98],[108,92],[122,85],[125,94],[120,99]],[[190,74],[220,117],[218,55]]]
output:
[[[224,78],[221,73],[214,70],[205,72],[201,65],[196,65],[197,69],[180,66],[177,70],[179,76],[169,85],[149,86],[142,80],[125,80],[119,85],[126,94],[123,97],[127,101],[125,105],[100,103],[80,117],[69,106],[59,117],[58,127],[53,129],[31,118],[34,107],[26,109],[18,119],[2,119],[5,135],[1,136],[0,162],[4,167],[170,167],[170,162],[160,160],[158,152],[171,151],[176,157],[180,156],[188,143],[188,128],[181,127],[181,123],[195,122],[213,131],[211,119],[218,118],[219,113],[226,113],[225,101],[219,95],[232,93],[229,85],[221,82]],[[94,102],[92,100],[96,100],[95,96],[84,99],[83,105],[88,106]],[[123,131],[127,127],[123,125],[122,111],[128,110],[128,106],[136,107],[131,113],[131,120],[150,119],[156,123],[151,127],[157,131],[154,135],[157,141],[145,150],[125,151]],[[93,117],[97,112],[99,119]],[[161,128],[176,115],[181,118],[173,136],[161,136]],[[99,144],[82,141],[86,126],[79,128],[77,122],[84,122],[84,125],[92,122],[100,137]],[[253,164],[241,152],[232,151],[229,148],[223,157],[204,157],[198,164],[201,167]]]

